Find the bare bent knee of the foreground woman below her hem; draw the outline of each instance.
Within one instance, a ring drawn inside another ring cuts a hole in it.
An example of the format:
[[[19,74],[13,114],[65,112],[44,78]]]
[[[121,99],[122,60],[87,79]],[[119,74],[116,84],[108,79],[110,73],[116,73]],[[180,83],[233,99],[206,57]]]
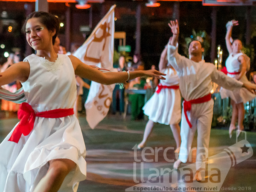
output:
[[[48,172],[35,187],[34,192],[58,192],[67,174],[75,167],[76,163],[69,159],[49,161]]]

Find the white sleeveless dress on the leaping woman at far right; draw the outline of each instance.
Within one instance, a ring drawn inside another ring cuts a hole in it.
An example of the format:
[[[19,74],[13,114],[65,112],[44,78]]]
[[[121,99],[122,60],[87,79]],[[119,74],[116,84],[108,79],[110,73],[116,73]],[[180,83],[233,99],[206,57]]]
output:
[[[243,55],[242,52],[237,53],[236,55],[230,54],[228,56],[228,58],[226,60],[226,67],[227,67],[227,71],[229,73],[241,72],[242,65],[238,61],[238,58],[241,55]],[[232,78],[235,78],[236,76],[238,76],[238,75],[231,75],[229,73],[227,73],[227,76],[230,76]],[[241,81],[243,83],[245,83],[245,82],[250,83],[250,81],[248,81],[245,74],[241,77],[241,79],[239,79],[239,81]],[[233,91],[227,90],[227,89],[224,89],[223,87],[221,87],[220,93],[221,93],[221,99],[230,97],[230,99],[235,101],[236,104],[249,102],[256,97],[255,94],[251,93],[249,90],[247,90],[244,87],[242,87],[241,89],[235,89]]]

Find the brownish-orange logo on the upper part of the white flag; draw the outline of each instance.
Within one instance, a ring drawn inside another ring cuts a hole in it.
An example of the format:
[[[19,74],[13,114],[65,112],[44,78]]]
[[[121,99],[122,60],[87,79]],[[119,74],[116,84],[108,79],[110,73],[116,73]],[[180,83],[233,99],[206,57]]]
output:
[[[110,31],[109,25],[110,25],[110,23],[104,23],[99,27],[99,29],[102,29],[102,31],[103,31],[103,34],[100,38],[97,38],[96,33],[94,33],[93,41],[90,42],[90,44],[88,45],[88,47],[86,49],[86,52],[85,52],[85,55],[84,55],[84,61],[92,61],[94,63],[99,63],[101,61],[101,56],[100,56],[100,58],[93,58],[93,57],[87,56],[87,50],[89,50],[89,46],[92,45],[93,42],[102,42],[103,40],[105,40],[105,43],[103,44],[103,47],[102,47],[102,51],[104,51],[106,41],[107,41],[107,37],[111,36],[111,34],[109,33],[109,31]]]

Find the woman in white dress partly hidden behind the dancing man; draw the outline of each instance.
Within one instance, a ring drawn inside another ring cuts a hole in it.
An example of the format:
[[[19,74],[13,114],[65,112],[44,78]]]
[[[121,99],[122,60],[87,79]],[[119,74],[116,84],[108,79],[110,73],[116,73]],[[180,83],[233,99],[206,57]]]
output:
[[[180,79],[173,67],[168,65],[167,46],[161,54],[159,70],[167,74],[166,80],[160,80],[156,92],[143,107],[144,114],[148,116],[149,120],[145,127],[143,140],[137,147],[143,148],[145,146],[154,124],[159,122],[170,125],[176,142],[175,152],[178,153],[181,142],[178,124],[181,119]]]

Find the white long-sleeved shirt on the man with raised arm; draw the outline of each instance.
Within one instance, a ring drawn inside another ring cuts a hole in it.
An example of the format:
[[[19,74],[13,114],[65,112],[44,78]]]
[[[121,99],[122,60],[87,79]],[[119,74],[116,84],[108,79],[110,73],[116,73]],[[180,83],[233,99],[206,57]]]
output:
[[[168,61],[180,77],[180,92],[186,101],[206,96],[212,90],[212,81],[229,90],[241,88],[243,83],[218,71],[215,65],[192,61],[177,52],[178,46],[168,45]]]

